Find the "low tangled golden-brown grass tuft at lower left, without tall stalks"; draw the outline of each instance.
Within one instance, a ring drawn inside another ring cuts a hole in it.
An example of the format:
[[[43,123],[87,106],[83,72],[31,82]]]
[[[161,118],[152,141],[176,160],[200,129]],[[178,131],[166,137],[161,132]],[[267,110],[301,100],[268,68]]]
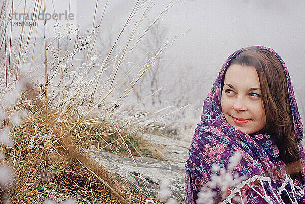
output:
[[[33,103],[37,104],[37,101]],[[22,108],[21,104],[18,108]],[[45,110],[30,108],[22,125],[12,129],[15,147],[3,147],[2,150],[7,156],[5,163],[12,165],[15,172],[14,184],[6,189],[10,200],[14,203],[37,203],[37,195],[51,196],[52,191],[102,203],[143,203],[149,199],[145,192],[110,174],[83,151],[103,137],[101,144],[111,141],[109,136],[105,136],[111,130],[109,121],[87,117],[75,120],[77,111],[73,112],[73,109],[73,106],[69,109],[50,108],[47,128]],[[58,122],[58,118],[66,121]],[[88,128],[92,124],[101,125]],[[109,149],[111,146],[115,145],[109,145]],[[121,151],[121,154],[127,152]],[[153,155],[147,152],[142,156]]]

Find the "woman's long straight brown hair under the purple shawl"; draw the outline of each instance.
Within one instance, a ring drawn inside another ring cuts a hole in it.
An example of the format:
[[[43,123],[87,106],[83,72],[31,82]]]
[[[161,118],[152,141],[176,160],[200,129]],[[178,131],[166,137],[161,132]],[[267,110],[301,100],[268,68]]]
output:
[[[237,54],[227,68],[232,64],[255,67],[266,113],[266,126],[262,131],[275,135],[279,157],[285,164],[299,163],[299,149],[294,136],[287,81],[278,57],[266,49],[256,48]],[[221,90],[225,73],[221,81]]]

